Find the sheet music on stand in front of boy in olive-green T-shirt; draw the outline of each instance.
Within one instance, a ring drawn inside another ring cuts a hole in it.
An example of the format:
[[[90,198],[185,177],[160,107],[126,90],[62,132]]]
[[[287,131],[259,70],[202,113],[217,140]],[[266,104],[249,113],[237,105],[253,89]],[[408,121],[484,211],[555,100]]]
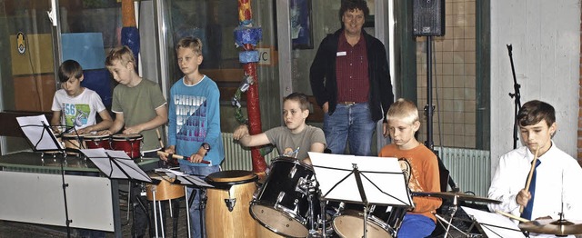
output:
[[[127,156],[124,151],[105,150],[104,148],[81,149],[80,151],[111,179],[133,179],[152,183],[146,172],[135,164],[134,160]],[[115,160],[116,164],[110,161],[109,157]]]

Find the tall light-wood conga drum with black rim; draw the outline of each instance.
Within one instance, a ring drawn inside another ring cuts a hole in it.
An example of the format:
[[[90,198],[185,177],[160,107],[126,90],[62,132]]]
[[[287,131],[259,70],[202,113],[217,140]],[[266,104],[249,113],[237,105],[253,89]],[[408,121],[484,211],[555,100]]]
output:
[[[256,237],[249,211],[257,176],[250,171],[221,171],[206,176],[206,234],[209,238]]]

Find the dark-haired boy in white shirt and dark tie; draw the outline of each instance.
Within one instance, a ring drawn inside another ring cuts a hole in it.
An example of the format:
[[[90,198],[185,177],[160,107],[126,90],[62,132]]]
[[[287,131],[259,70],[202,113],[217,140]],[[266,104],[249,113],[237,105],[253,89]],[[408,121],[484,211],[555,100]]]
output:
[[[488,197],[501,201],[489,203],[489,210],[521,216],[527,220],[559,219],[559,213],[569,220],[582,219],[582,168],[570,155],[552,141],[556,134],[554,107],[541,101],[529,101],[517,114],[519,134],[525,146],[503,154],[491,180]],[[529,191],[525,189],[534,156],[535,167]],[[535,193],[530,193],[535,189]],[[523,206],[523,213],[519,213]],[[562,210],[563,209],[563,210]]]

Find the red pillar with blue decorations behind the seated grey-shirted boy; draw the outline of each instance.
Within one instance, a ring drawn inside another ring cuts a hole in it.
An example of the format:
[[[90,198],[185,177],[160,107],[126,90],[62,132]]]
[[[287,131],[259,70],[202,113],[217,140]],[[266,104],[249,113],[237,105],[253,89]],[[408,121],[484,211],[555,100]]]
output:
[[[241,92],[247,91],[246,94],[246,112],[248,121],[241,119],[242,115],[236,114],[238,121],[248,123],[250,134],[260,134],[261,129],[261,110],[258,100],[258,80],[256,78],[256,64],[258,63],[258,52],[255,50],[256,44],[261,40],[262,30],[260,27],[253,26],[251,11],[251,0],[238,0],[238,20],[239,25],[235,29],[236,46],[242,50],[238,55],[239,61],[244,65],[245,79],[233,99],[233,104],[240,108],[238,99]],[[237,98],[238,96],[238,98]],[[253,172],[263,174],[266,170],[264,153],[257,147],[251,148],[253,156]]]

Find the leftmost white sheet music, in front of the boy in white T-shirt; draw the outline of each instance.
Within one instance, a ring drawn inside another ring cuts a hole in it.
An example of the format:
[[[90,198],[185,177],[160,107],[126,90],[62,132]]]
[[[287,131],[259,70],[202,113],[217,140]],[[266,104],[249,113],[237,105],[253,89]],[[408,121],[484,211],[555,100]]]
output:
[[[63,145],[56,143],[56,136],[52,130],[45,130],[45,125],[49,125],[44,114],[19,116],[16,121],[25,133],[28,141],[35,145],[36,151],[58,151],[64,150]],[[39,142],[40,141],[40,142]]]

